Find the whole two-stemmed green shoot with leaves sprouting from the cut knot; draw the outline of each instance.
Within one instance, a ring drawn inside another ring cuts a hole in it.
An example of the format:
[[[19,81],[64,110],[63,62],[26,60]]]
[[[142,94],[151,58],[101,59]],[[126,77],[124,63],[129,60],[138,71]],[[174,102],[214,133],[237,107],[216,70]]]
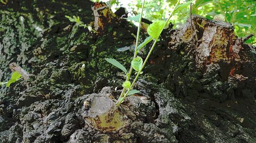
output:
[[[181,9],[182,7],[185,7],[186,5],[190,4],[190,3],[185,3],[179,6],[180,0],[178,0],[178,2],[175,5],[174,10],[172,11],[172,13],[169,15],[168,19],[166,21],[163,20],[157,20],[155,22],[153,22],[152,24],[150,24],[150,26],[148,26],[147,28],[147,34],[150,35],[149,37],[147,37],[144,42],[142,42],[140,45],[138,45],[138,41],[139,41],[139,33],[140,33],[140,25],[141,25],[141,18],[142,18],[142,12],[143,12],[143,8],[144,8],[144,4],[145,4],[145,0],[143,1],[142,4],[142,8],[141,8],[141,14],[139,16],[138,19],[138,15],[135,17],[131,17],[131,18],[127,18],[130,20],[135,20],[135,21],[139,21],[139,26],[138,26],[138,31],[137,31],[137,37],[136,37],[136,44],[135,44],[135,51],[134,51],[134,56],[133,56],[133,60],[131,63],[131,68],[129,73],[126,73],[126,80],[125,82],[123,82],[122,87],[123,87],[123,91],[121,93],[121,95],[119,96],[116,105],[119,106],[123,100],[126,98],[126,96],[132,95],[132,94],[136,94],[139,93],[139,91],[136,90],[132,90],[134,87],[135,82],[137,81],[138,77],[140,74],[142,74],[142,69],[144,68],[148,58],[150,57],[151,52],[153,51],[154,47],[156,46],[156,43],[158,41],[159,36],[161,35],[163,29],[165,26],[168,25],[168,21],[169,19],[174,15],[175,12],[178,11],[178,9]],[[140,58],[140,56],[137,56],[138,51],[145,46],[147,43],[149,43],[150,41],[154,40],[154,43],[150,49],[150,51],[148,52],[146,59],[142,60],[142,58]],[[115,65],[116,67],[118,67],[119,69],[125,69],[119,62],[117,62],[114,59],[106,59],[106,61],[108,61],[109,63]],[[113,63],[114,61],[114,63]],[[120,65],[119,65],[120,64]],[[133,80],[133,82],[131,83],[130,80],[130,76],[132,73],[132,70],[136,71],[136,77]],[[126,70],[126,69],[125,69]]]

